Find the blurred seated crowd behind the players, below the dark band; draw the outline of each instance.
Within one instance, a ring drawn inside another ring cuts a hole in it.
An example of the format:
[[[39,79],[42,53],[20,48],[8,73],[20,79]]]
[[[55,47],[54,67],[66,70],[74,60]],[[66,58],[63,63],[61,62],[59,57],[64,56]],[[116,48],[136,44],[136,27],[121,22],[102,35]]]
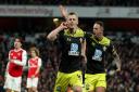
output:
[[[8,51],[12,47],[13,38],[18,34],[0,35],[0,92],[4,92],[4,71],[8,63]],[[111,37],[111,36],[110,36]],[[36,45],[40,50],[42,58],[41,74],[38,84],[38,92],[53,92],[56,71],[60,63],[59,41],[49,42],[46,34],[24,35],[24,49]],[[123,37],[121,37],[123,38]],[[108,91],[106,92],[139,92],[139,44],[129,39],[113,38],[115,47],[122,60],[122,70],[116,73],[112,60],[106,62],[108,67]],[[22,92],[26,92],[26,75],[24,70]]]

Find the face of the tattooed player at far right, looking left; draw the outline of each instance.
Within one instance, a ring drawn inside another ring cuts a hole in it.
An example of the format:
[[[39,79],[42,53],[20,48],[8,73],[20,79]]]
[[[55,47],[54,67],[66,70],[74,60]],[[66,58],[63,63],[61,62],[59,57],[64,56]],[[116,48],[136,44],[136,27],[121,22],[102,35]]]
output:
[[[93,35],[97,38],[101,38],[103,36],[103,27],[99,24],[93,25]]]

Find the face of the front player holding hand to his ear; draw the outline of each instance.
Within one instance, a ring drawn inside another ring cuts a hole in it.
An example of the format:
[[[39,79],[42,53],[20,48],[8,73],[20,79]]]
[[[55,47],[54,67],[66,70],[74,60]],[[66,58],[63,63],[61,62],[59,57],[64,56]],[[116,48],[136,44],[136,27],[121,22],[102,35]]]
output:
[[[78,18],[76,15],[68,15],[67,23],[70,28],[74,28],[78,25]]]

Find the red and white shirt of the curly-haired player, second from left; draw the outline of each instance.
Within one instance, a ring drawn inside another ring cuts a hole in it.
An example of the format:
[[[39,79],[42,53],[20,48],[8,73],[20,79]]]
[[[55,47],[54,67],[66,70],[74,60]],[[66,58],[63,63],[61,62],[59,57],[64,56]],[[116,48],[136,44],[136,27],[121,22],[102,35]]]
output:
[[[37,68],[41,67],[41,58],[36,56],[28,60],[28,78],[31,78],[31,76],[38,77],[38,74],[36,74]]]

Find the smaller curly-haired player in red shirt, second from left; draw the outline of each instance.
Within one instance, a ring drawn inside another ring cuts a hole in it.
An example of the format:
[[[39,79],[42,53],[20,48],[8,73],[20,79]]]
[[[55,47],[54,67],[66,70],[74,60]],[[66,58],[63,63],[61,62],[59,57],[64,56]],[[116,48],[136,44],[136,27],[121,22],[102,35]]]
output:
[[[41,67],[39,50],[37,48],[30,48],[30,56],[28,60],[27,89],[28,92],[37,92],[39,70]]]

